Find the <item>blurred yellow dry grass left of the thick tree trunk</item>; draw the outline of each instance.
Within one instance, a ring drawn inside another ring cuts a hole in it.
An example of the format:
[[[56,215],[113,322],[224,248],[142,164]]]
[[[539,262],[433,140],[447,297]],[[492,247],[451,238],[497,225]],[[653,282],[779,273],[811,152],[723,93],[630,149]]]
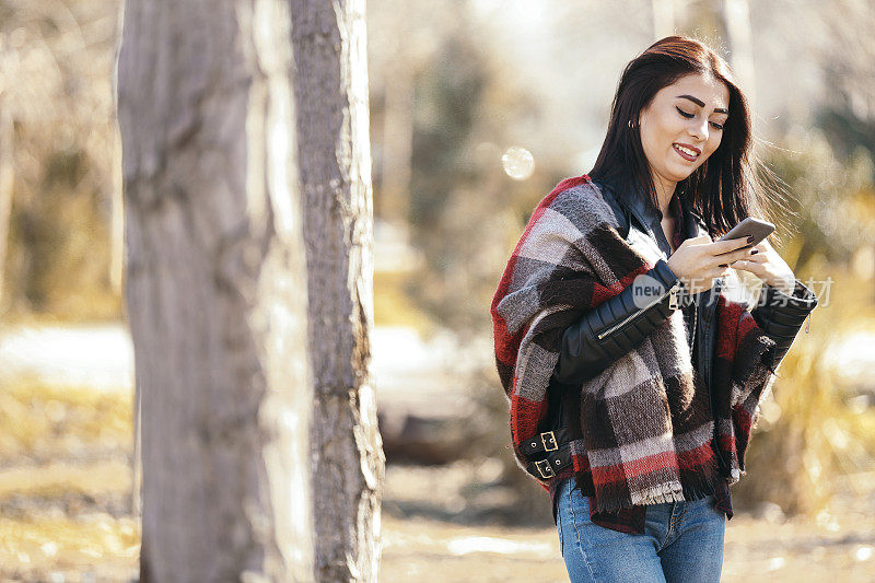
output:
[[[0,579],[133,576],[130,395],[7,378],[0,427]]]

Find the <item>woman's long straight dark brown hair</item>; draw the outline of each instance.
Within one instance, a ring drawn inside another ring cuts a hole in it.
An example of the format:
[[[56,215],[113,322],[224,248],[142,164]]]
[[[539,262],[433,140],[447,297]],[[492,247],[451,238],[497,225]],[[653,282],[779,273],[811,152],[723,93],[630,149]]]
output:
[[[631,60],[620,77],[610,109],[605,143],[595,166],[587,174],[616,184],[618,190],[643,193],[657,205],[637,120],[656,92],[684,75],[700,73],[723,81],[730,90],[728,118],[720,145],[696,171],[677,183],[678,196],[692,205],[712,236],[722,235],[748,215],[767,218],[770,193],[754,168],[750,113],[735,77],[716,53],[704,43],[686,36],[667,36]],[[629,127],[633,120],[634,127]]]

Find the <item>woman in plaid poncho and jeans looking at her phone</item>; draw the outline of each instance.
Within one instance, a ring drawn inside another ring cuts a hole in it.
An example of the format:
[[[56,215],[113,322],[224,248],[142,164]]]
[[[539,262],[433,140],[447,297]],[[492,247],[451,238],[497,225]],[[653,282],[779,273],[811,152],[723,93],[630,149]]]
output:
[[[713,241],[762,217],[750,147],[726,63],[663,38],[627,66],[595,166],[541,200],[499,284],[514,454],[551,494],[574,582],[720,580],[728,486],[817,304],[766,241]],[[762,281],[752,311],[724,289],[733,270]]]

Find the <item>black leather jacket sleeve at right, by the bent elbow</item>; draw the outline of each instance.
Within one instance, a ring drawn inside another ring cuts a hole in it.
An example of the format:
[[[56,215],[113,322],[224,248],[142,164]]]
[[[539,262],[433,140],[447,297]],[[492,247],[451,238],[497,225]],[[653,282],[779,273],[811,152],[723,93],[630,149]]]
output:
[[[817,296],[798,280],[791,295],[763,285],[759,302],[750,311],[757,325],[775,341],[771,369],[774,371],[790,350],[805,318],[817,306]]]

